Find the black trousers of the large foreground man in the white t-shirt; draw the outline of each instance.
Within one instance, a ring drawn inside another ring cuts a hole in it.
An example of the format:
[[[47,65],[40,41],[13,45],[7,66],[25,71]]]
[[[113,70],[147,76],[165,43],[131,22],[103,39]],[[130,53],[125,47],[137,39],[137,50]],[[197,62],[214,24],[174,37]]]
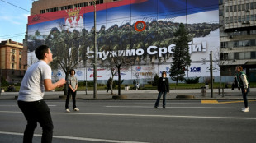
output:
[[[50,108],[44,100],[35,102],[18,101],[18,106],[24,114],[27,124],[24,131],[23,143],[31,143],[34,131],[39,122],[43,129],[42,143],[52,142],[54,125],[50,116]]]

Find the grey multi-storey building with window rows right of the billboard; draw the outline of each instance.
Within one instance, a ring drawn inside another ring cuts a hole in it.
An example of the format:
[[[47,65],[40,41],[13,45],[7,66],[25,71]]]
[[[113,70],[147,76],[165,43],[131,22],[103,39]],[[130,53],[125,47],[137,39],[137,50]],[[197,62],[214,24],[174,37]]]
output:
[[[256,81],[256,1],[220,0],[220,67],[222,76],[234,76],[235,66]]]

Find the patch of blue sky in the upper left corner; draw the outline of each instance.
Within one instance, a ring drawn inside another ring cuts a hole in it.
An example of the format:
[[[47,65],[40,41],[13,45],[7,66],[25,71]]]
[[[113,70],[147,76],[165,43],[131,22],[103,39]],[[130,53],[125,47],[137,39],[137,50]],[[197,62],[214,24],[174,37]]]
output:
[[[32,0],[0,0],[0,41],[23,42],[32,3]]]

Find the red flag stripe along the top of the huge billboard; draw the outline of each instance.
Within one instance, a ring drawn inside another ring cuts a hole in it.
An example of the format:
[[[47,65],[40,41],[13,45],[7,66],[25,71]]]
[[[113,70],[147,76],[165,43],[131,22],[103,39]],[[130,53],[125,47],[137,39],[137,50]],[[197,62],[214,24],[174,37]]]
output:
[[[129,4],[142,3],[146,1],[148,0],[123,0],[123,1],[109,2],[109,3],[103,3],[103,4],[97,5],[96,9],[97,11],[102,11],[107,8],[121,7]],[[89,13],[89,12],[94,12],[93,6],[82,7],[79,14]],[[68,16],[69,15],[66,12],[66,10],[58,11],[58,12],[49,12],[49,13],[44,13],[39,15],[32,15],[32,16],[28,16],[28,25],[35,25],[45,21],[54,21],[60,18],[68,17]]]

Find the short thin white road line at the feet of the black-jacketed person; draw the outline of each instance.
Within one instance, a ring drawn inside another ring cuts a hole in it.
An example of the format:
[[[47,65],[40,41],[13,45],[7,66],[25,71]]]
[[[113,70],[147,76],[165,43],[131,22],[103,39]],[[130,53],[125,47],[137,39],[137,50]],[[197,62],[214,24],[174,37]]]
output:
[[[152,106],[105,106],[107,108],[153,108]],[[166,107],[166,108],[216,108],[216,109],[235,109],[226,107]]]

